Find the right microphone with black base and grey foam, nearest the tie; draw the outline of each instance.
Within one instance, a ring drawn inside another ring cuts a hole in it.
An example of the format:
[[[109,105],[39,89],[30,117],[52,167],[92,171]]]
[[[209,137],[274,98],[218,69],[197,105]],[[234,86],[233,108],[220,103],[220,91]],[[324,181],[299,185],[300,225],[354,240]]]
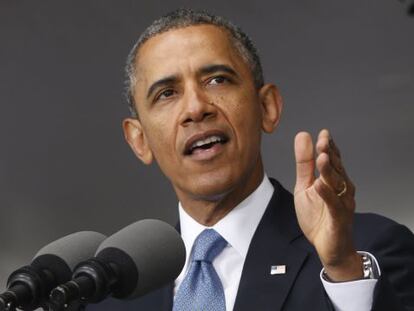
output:
[[[173,227],[155,219],[138,221],[106,239],[94,258],[75,268],[72,281],[51,292],[51,310],[79,300],[98,303],[109,295],[142,296],[177,278],[184,262],[184,242]]]

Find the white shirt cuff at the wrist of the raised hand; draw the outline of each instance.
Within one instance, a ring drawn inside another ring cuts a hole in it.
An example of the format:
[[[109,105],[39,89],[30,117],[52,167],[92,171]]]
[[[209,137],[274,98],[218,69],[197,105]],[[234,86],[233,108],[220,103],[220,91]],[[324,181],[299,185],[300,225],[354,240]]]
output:
[[[358,252],[371,257],[374,270],[381,275],[377,259],[368,252]],[[336,311],[369,311],[372,307],[375,285],[378,279],[363,279],[350,282],[329,282],[323,277],[324,269],[320,273],[320,278]]]

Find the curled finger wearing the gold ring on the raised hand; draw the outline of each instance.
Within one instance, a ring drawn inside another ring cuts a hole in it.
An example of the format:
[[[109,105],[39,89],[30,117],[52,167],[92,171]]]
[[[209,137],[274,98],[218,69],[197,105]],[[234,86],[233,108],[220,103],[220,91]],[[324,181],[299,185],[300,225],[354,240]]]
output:
[[[345,178],[333,167],[330,156],[323,152],[316,159],[316,167],[322,181],[328,185],[334,193],[340,193],[344,188]]]

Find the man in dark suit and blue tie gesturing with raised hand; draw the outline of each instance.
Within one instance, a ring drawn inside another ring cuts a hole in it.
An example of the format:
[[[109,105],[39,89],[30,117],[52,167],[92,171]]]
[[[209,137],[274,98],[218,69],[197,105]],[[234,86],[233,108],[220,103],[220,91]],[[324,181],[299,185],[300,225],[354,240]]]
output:
[[[174,187],[187,262],[174,284],[97,310],[414,310],[414,238],[354,214],[328,130],[315,145],[296,136],[293,198],[265,175],[261,133],[277,127],[282,99],[240,29],[175,11],[144,32],[127,72],[125,137]],[[211,234],[220,249],[195,259]]]

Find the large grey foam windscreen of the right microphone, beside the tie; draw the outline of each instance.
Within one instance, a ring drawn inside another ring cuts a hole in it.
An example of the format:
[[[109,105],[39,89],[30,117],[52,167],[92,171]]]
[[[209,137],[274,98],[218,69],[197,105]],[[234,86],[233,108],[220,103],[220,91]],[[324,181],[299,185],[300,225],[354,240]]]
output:
[[[123,279],[113,296],[133,299],[177,278],[185,263],[185,246],[169,224],[145,219],[106,239],[96,257],[120,267]]]

